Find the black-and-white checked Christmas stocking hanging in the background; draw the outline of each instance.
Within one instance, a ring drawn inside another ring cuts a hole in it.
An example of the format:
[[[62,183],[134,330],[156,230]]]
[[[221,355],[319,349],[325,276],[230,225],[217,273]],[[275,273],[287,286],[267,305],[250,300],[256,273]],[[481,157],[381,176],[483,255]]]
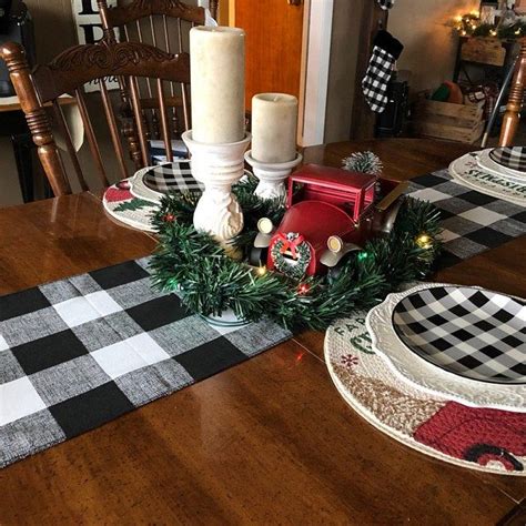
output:
[[[373,45],[373,55],[362,81],[362,89],[371,109],[382,113],[387,105],[387,84],[394,64],[404,47],[387,31],[378,31]]]

